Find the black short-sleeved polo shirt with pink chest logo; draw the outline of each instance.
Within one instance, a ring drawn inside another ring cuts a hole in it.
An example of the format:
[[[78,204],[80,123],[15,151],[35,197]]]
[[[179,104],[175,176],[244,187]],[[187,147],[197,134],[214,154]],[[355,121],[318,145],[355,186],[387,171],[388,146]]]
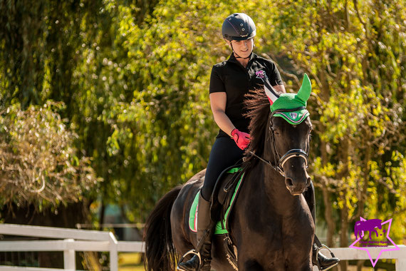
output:
[[[273,61],[251,54],[246,68],[236,60],[234,53],[227,61],[217,63],[212,68],[209,93],[227,93],[226,115],[239,131],[248,133],[249,118],[244,117],[244,96],[255,88],[264,88],[264,83],[257,71],[264,71],[271,86],[282,85],[281,75]],[[228,136],[220,129],[220,136]]]

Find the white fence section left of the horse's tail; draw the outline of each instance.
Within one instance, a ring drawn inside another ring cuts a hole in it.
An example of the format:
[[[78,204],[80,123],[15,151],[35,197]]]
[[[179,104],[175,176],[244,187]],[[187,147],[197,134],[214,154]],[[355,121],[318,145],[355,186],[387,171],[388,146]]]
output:
[[[76,251],[110,252],[110,270],[118,270],[118,252],[144,252],[142,242],[124,242],[113,232],[0,224],[0,235],[44,237],[58,240],[1,241],[0,252],[63,251],[64,270],[76,270]],[[61,269],[0,266],[0,270],[61,271]]]

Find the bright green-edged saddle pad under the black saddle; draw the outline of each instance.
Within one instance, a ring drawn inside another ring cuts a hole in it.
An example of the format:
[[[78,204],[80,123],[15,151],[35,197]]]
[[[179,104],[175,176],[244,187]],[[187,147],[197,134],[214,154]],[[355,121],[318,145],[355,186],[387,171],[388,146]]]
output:
[[[231,170],[227,171],[227,173],[237,173],[237,172],[239,172],[239,170],[241,170],[241,168],[231,168]],[[239,190],[239,187],[241,185],[241,180],[243,178],[244,178],[244,173],[241,175],[241,178],[239,178],[236,188],[234,189],[233,196],[230,200],[229,205],[227,206],[226,215],[224,215],[223,224],[221,223],[221,221],[217,222],[216,230],[214,231],[215,235],[221,235],[221,234],[229,232],[225,228],[227,225],[227,218],[229,217],[229,212],[230,212],[231,206],[235,200],[236,192]],[[192,208],[190,208],[190,212],[189,212],[189,227],[190,227],[190,230],[192,230],[192,232],[197,232],[197,206],[199,205],[199,194],[200,194],[200,190],[194,197],[194,200],[192,203]],[[224,227],[222,225],[224,225]]]

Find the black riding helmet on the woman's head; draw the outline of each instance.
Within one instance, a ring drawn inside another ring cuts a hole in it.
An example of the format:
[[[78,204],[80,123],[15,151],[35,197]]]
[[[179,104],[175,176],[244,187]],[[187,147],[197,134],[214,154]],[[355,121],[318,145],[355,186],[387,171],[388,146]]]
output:
[[[250,16],[234,13],[224,20],[222,34],[229,41],[244,41],[254,38],[256,27]]]

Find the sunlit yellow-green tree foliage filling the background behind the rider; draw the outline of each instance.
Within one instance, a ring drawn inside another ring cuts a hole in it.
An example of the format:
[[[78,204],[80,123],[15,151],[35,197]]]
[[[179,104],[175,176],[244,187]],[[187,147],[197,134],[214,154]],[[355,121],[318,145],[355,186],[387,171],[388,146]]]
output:
[[[104,179],[103,203],[127,206],[130,220],[142,222],[167,190],[206,166],[217,133],[209,73],[231,52],[222,21],[239,11],[256,21],[254,50],[279,64],[288,91],[303,72],[312,79],[311,171],[328,245],[338,233],[348,246],[360,216],[394,218],[394,240],[405,236],[404,1],[0,7],[1,103],[63,101],[76,147]]]

